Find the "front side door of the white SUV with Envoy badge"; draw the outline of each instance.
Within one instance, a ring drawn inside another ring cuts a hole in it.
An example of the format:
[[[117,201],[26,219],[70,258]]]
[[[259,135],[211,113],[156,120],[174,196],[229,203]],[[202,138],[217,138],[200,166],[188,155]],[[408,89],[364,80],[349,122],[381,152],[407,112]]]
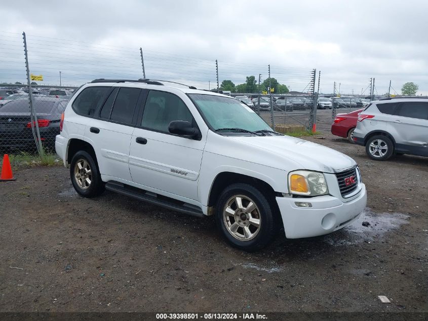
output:
[[[183,100],[175,94],[150,90],[141,122],[131,138],[129,168],[135,183],[197,200],[198,177],[205,137],[170,134],[171,121],[195,124]],[[165,195],[168,195],[164,193]]]

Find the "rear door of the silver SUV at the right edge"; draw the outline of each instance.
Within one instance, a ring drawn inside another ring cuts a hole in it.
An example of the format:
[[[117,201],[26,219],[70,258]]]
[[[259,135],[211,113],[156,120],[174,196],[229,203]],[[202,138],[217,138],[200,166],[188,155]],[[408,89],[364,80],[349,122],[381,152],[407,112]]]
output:
[[[397,130],[397,149],[428,156],[428,102],[401,102],[396,114],[388,126]]]

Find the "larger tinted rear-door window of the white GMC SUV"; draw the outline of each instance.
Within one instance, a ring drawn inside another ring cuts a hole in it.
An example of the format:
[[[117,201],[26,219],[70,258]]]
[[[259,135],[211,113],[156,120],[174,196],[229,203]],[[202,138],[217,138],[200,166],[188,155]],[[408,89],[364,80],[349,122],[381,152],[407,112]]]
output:
[[[140,92],[141,89],[139,88],[121,88],[114,100],[110,119],[116,122],[131,124]]]

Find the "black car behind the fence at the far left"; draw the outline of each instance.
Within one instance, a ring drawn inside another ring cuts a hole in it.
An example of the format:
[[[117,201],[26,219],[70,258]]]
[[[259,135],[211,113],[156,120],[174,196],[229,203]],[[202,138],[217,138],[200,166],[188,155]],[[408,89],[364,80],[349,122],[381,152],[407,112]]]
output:
[[[54,150],[55,136],[59,134],[61,114],[67,100],[43,97],[33,100],[40,139],[44,147]],[[0,107],[0,149],[33,151],[35,147],[28,99],[13,100]]]

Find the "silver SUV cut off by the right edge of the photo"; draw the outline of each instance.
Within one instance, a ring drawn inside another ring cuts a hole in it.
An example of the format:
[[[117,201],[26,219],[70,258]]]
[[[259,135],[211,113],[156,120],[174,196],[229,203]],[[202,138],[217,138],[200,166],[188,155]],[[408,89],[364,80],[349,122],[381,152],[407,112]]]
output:
[[[358,117],[354,141],[373,160],[394,154],[428,156],[428,98],[384,98]]]

